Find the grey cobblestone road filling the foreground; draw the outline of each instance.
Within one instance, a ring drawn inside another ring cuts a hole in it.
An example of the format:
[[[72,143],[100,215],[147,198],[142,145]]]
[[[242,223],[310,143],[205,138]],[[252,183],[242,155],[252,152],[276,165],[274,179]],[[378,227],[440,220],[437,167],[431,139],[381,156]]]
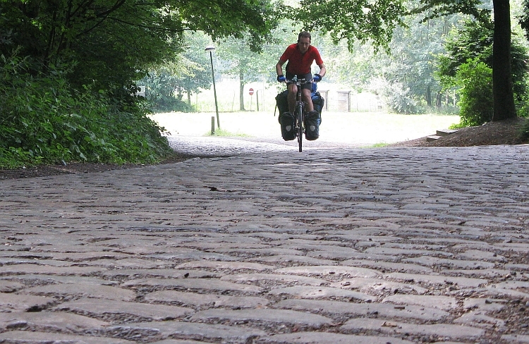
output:
[[[529,147],[0,183],[0,343],[529,343]]]

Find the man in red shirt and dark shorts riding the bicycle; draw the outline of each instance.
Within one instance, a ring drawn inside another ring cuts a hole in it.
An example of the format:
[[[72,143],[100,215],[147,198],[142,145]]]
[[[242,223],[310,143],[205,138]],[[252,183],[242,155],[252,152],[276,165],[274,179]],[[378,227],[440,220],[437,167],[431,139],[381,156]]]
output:
[[[283,55],[279,58],[279,61],[276,64],[277,72],[277,81],[285,82],[286,80],[292,80],[294,76],[298,79],[313,79],[315,82],[322,80],[327,72],[325,65],[320,56],[320,51],[310,45],[311,36],[310,32],[303,31],[298,35],[298,43],[289,45],[284,51]],[[283,65],[286,64],[286,74],[283,75]],[[312,73],[310,73],[310,67],[312,62],[316,61],[318,67],[320,67],[320,73],[314,75],[312,78]],[[303,102],[307,104],[307,112],[314,111],[314,105],[312,104],[312,99],[310,97],[310,90],[312,86],[305,84],[302,87],[302,97]],[[288,111],[294,113],[294,108],[296,107],[296,93],[298,92],[298,87],[296,84],[288,85]]]

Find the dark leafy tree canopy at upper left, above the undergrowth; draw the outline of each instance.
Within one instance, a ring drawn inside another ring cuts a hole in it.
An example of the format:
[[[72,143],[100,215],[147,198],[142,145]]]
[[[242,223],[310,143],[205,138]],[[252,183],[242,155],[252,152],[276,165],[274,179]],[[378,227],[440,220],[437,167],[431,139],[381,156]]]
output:
[[[269,0],[3,0],[0,53],[21,47],[37,71],[73,65],[76,87],[130,88],[181,49],[181,35],[248,35],[259,50],[276,23]]]

